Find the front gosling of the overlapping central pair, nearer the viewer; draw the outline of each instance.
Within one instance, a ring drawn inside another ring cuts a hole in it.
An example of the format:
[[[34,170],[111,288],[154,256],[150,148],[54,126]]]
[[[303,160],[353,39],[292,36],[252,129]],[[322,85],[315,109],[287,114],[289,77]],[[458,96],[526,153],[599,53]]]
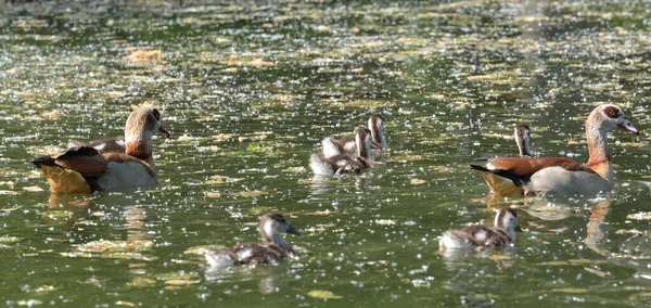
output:
[[[336,176],[342,174],[359,175],[363,169],[373,165],[371,161],[371,131],[368,128],[359,127],[355,133],[355,143],[357,155],[339,154],[326,157],[326,155],[314,154],[309,167],[315,175]]]

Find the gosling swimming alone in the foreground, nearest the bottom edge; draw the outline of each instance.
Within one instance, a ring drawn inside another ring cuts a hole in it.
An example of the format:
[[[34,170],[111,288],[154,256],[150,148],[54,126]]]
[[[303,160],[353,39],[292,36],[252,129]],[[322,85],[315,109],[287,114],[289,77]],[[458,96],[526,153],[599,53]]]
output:
[[[267,213],[258,228],[263,243],[242,243],[232,248],[207,251],[204,256],[212,267],[269,265],[294,255],[283,233],[301,234],[280,213]]]

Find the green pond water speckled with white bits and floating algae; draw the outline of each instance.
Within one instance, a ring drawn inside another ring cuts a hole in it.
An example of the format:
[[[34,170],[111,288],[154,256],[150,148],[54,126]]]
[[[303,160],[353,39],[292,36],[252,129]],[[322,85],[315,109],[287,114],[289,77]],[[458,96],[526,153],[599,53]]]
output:
[[[20,1],[15,1],[20,2]],[[10,307],[651,305],[644,1],[37,1],[0,14],[0,303]],[[475,157],[587,161],[620,105],[612,194],[487,198]],[[153,104],[159,187],[51,195],[29,163],[122,134]],[[320,140],[380,112],[391,150],[312,181]],[[444,256],[449,228],[518,208],[512,247]],[[283,211],[299,258],[210,269]]]

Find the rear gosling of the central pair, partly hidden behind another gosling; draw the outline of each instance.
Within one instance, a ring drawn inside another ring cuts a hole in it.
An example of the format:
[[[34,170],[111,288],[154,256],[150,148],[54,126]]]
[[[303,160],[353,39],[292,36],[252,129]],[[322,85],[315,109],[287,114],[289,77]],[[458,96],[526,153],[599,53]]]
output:
[[[368,128],[371,130],[371,149],[382,150],[388,147],[386,144],[386,139],[384,138],[384,123],[382,120],[382,115],[373,114],[369,118]],[[340,139],[335,139],[332,137],[323,139],[321,141],[323,145],[323,157],[333,157],[341,154],[355,155],[357,154],[357,145],[355,144],[355,139],[349,137],[343,137]]]

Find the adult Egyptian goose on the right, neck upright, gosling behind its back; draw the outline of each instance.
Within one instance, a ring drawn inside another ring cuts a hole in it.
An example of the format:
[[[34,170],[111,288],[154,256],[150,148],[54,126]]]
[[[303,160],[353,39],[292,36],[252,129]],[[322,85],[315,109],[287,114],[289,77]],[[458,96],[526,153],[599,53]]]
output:
[[[596,194],[613,187],[613,166],[607,144],[607,132],[621,128],[639,134],[612,104],[596,107],[586,120],[588,163],[567,158],[495,158],[485,167],[471,165],[482,171],[490,192],[497,195]]]

